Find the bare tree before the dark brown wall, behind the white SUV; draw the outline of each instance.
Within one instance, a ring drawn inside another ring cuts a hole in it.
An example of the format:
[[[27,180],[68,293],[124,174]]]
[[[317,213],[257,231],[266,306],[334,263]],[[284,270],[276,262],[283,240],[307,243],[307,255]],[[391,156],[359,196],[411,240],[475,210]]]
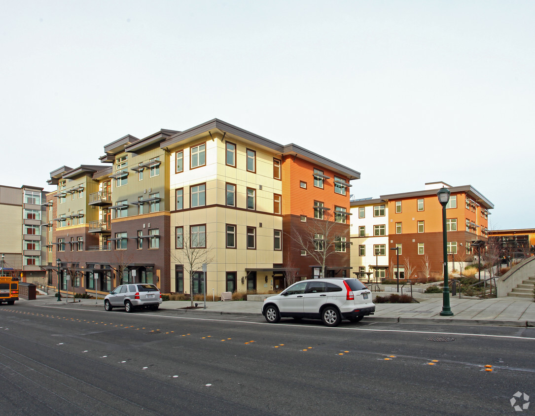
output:
[[[340,235],[337,232],[339,224],[333,221],[334,215],[330,210],[322,207],[318,212],[320,218],[308,218],[304,232],[293,228],[288,236],[297,243],[301,250],[307,252],[307,256],[317,261],[325,277],[327,259],[339,254],[337,248],[345,251],[346,244],[349,242],[346,235]],[[342,241],[341,237],[346,237],[346,241]]]

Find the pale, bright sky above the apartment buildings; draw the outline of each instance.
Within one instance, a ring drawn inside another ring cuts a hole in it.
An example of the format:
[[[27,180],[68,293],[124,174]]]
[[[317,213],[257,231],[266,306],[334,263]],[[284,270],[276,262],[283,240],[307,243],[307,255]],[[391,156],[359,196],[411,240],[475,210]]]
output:
[[[489,228],[535,227],[534,1],[0,4],[1,184],[219,118],[361,172],[357,198],[471,184]]]

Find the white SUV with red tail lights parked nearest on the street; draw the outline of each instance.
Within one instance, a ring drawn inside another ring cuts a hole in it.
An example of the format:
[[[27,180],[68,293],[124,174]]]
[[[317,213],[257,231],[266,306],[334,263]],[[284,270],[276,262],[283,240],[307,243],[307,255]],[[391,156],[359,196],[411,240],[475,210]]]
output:
[[[302,280],[266,298],[262,306],[262,314],[270,323],[284,317],[312,318],[331,327],[342,318],[358,322],[373,312],[371,291],[358,279]]]

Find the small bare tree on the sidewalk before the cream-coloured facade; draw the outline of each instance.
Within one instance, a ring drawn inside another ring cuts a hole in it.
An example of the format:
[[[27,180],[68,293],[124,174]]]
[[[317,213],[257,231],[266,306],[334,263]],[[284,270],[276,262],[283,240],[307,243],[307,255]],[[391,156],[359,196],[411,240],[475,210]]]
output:
[[[175,238],[177,237],[175,236]],[[181,246],[181,249],[170,250],[170,256],[173,260],[188,267],[191,306],[193,306],[193,273],[202,269],[203,264],[208,265],[213,262],[213,248],[207,248],[205,245],[205,238],[196,235],[192,237],[189,233],[184,232],[182,237],[177,240],[177,247]],[[207,288],[204,288],[204,291],[206,290]]]

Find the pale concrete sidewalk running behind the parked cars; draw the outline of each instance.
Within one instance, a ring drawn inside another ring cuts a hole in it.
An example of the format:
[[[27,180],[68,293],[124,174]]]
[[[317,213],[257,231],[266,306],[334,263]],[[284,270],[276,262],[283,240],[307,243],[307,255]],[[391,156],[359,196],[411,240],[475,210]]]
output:
[[[68,305],[97,307],[104,310],[104,300],[76,299],[73,303],[69,298]],[[80,302],[78,302],[80,301]],[[67,305],[66,298],[57,302],[53,295],[37,296],[36,301],[18,301],[45,304],[49,306]],[[194,302],[198,309],[181,309],[190,306],[189,301],[166,301],[160,305],[160,309],[175,311],[177,313],[191,314],[232,314],[238,316],[256,315],[261,317],[262,302],[231,301],[231,302],[207,302],[207,309],[203,309],[204,302]],[[456,323],[460,325],[489,325],[489,326],[515,326],[535,327],[535,302],[510,298],[498,299],[450,299],[453,317],[442,317],[442,298],[430,298],[420,303],[380,303],[376,304],[376,312],[365,321],[369,322],[404,322],[404,323]]]

